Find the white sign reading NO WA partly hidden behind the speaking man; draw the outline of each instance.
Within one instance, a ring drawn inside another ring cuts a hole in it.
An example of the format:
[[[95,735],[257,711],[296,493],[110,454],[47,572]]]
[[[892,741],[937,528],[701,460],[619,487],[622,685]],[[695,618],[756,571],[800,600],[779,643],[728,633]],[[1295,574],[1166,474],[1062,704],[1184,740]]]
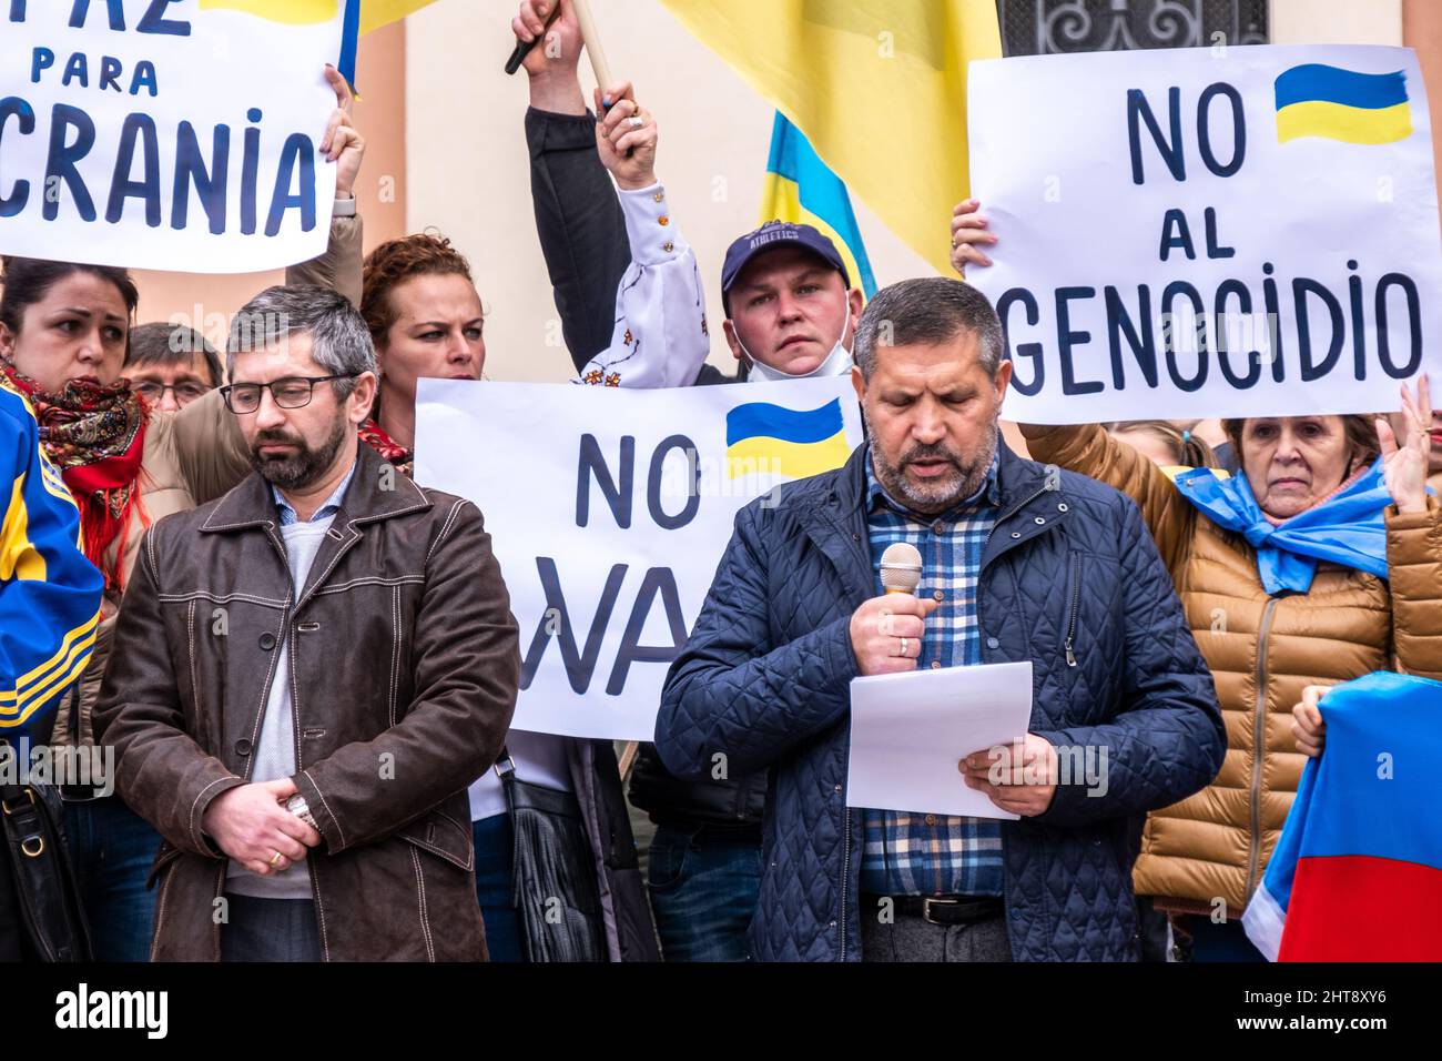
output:
[[[515,726],[649,741],[737,511],[861,445],[846,377],[662,391],[423,380],[415,479],[476,502],[521,624]]]

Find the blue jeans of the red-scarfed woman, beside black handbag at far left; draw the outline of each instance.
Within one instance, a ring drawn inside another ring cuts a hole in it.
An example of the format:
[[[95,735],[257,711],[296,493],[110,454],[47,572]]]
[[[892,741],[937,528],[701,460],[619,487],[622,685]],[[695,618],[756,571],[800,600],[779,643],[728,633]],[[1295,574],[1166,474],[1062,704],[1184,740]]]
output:
[[[146,888],[160,833],[118,795],[65,804],[65,839],[97,961],[149,961],[156,894]]]

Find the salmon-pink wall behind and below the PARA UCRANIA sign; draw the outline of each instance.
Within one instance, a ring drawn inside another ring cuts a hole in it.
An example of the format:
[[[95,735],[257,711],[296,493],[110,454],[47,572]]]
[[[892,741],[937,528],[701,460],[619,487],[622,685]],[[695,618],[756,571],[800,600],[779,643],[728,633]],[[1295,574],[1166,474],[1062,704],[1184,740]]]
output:
[[[405,231],[405,25],[363,38],[356,69],[362,100],[356,102],[355,121],[368,140],[356,198],[365,217],[366,245],[373,247]],[[231,276],[137,271],[137,319],[169,320],[183,315],[224,349],[229,315],[283,277],[280,271]]]

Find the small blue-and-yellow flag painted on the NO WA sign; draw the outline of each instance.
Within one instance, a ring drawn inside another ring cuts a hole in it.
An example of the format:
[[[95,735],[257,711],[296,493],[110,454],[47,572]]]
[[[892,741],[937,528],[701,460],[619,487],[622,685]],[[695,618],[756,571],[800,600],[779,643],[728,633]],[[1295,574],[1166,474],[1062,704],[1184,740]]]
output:
[[[796,410],[748,401],[725,417],[725,455],[733,479],[756,472],[805,479],[841,468],[851,456],[841,398]]]

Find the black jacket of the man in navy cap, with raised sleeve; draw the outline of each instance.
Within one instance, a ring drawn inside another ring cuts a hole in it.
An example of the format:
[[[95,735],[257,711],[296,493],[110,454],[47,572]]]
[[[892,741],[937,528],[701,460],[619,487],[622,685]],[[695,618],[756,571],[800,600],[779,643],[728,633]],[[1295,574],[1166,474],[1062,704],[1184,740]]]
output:
[[[616,326],[616,287],[630,263],[630,241],[616,188],[596,153],[596,118],[526,111],[531,198],[561,333],[575,371],[610,345]],[[740,383],[702,365],[696,385]],[[679,781],[643,745],[630,784],[632,803],[652,821],[675,829],[725,826],[760,840],[766,810],[766,771],[747,777]]]

